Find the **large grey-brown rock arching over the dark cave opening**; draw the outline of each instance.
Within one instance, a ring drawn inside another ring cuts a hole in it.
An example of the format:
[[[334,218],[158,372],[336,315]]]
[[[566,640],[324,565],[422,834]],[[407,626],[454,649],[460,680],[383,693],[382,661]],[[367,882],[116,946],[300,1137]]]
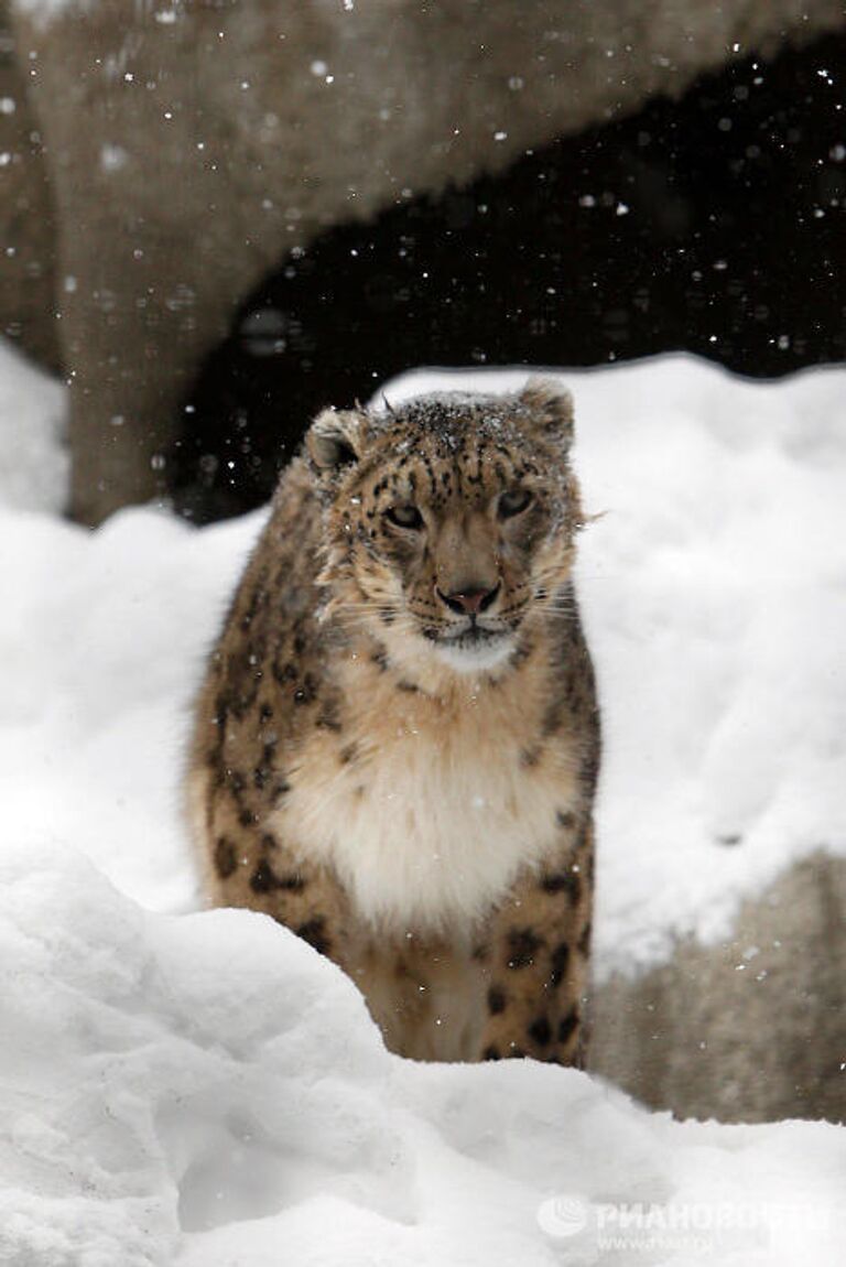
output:
[[[24,238],[49,224],[43,169],[56,205],[54,300],[27,338],[51,359],[58,329],[72,511],[95,523],[161,492],[157,455],[200,356],[319,229],[500,170],[651,94],[681,92],[735,52],[842,25],[843,10],[13,0],[11,20],[22,110],[43,139],[24,155],[15,198],[42,199]]]

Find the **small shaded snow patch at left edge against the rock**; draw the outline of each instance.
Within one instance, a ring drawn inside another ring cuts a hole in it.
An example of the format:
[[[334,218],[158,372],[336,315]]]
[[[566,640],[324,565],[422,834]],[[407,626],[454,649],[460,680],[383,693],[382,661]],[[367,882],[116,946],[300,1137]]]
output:
[[[0,340],[0,506],[61,511],[70,461],[65,388]]]

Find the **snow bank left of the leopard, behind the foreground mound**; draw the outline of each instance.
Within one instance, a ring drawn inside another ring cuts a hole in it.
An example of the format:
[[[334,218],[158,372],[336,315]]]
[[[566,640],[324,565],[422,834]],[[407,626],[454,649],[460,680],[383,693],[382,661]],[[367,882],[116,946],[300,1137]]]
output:
[[[0,511],[9,839],[72,841],[144,905],[198,905],[179,791],[189,706],[257,522],[200,536],[125,511],[90,533]]]

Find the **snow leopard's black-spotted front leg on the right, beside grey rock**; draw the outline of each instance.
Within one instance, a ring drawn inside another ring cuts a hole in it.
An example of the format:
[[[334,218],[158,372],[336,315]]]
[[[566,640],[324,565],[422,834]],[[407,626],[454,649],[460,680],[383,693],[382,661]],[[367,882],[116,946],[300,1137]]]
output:
[[[479,1059],[583,1062],[593,826],[579,826],[570,815],[560,815],[560,826],[561,850],[541,870],[518,879],[490,926]]]

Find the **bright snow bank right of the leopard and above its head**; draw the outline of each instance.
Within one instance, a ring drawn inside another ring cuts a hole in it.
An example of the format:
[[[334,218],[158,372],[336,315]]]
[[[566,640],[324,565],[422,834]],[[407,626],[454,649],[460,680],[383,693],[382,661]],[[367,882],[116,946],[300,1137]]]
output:
[[[578,569],[604,721],[595,946],[628,971],[726,934],[792,862],[846,851],[846,371],[552,374],[600,516]],[[419,371],[385,394],[524,379]]]

